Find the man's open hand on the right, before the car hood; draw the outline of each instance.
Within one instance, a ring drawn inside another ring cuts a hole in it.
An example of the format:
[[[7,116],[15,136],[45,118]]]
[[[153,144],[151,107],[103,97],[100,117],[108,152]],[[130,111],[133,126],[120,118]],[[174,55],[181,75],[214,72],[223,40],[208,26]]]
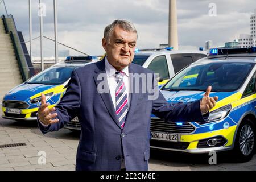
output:
[[[210,97],[210,91],[212,90],[212,86],[208,86],[204,97],[201,99],[200,102],[200,110],[202,113],[207,113],[209,110],[211,110],[218,100],[218,96]]]

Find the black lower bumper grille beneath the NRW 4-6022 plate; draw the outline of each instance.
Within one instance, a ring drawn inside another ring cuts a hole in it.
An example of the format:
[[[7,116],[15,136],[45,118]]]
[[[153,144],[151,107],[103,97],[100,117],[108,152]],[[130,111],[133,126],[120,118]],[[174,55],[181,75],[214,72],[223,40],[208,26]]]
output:
[[[165,149],[186,150],[189,146],[189,142],[168,142],[160,140],[150,140],[150,146]]]

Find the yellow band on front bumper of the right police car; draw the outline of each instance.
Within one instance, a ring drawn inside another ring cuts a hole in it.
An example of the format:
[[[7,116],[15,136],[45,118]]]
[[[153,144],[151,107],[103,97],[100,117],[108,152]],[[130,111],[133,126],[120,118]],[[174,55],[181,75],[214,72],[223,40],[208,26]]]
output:
[[[226,144],[226,146],[230,146],[233,143],[236,127],[237,125],[231,126],[228,129],[221,129],[221,130],[216,130],[216,131],[207,132],[207,133],[182,135],[180,141],[190,143],[187,149],[195,149],[199,140],[221,135],[225,137],[226,140],[228,140],[228,143]]]

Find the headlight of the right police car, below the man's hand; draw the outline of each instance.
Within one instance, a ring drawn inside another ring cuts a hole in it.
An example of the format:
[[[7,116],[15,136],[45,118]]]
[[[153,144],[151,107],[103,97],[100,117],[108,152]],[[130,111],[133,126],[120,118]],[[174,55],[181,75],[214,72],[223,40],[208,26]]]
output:
[[[214,122],[214,121],[218,121],[220,119],[225,118],[229,114],[231,109],[232,109],[231,104],[228,104],[210,112],[208,122]]]

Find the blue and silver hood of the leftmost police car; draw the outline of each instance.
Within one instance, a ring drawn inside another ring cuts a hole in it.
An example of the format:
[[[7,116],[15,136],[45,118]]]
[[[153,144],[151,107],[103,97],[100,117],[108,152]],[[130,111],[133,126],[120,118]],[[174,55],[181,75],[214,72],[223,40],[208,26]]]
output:
[[[27,98],[34,96],[40,92],[51,89],[58,85],[44,85],[44,84],[20,84],[11,89],[5,96],[5,100],[24,101]]]

